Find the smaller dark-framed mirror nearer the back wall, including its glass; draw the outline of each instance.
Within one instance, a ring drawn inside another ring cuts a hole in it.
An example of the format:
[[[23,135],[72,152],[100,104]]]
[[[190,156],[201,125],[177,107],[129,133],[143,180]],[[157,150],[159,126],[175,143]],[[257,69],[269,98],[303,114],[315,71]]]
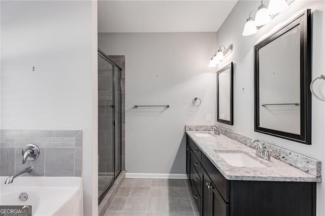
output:
[[[217,121],[233,125],[233,62],[217,71]]]

